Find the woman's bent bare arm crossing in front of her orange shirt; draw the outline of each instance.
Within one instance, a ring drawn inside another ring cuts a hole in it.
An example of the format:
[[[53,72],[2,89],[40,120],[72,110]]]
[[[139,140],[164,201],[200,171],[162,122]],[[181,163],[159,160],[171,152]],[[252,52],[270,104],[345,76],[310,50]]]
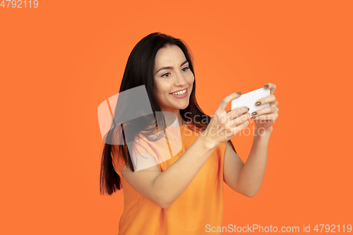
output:
[[[179,159],[161,172],[157,162],[155,166],[132,172],[125,165],[122,169],[123,177],[138,193],[148,200],[167,208],[184,193],[198,171],[210,157],[215,147],[211,147],[199,135],[195,142]],[[147,157],[152,155],[145,153]]]

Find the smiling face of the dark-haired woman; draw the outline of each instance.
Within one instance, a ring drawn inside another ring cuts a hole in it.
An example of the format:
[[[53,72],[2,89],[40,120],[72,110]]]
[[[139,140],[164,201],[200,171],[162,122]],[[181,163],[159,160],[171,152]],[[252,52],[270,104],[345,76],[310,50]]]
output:
[[[167,45],[158,50],[155,56],[154,82],[155,96],[162,111],[178,114],[179,109],[186,109],[194,79],[189,62],[178,46]]]

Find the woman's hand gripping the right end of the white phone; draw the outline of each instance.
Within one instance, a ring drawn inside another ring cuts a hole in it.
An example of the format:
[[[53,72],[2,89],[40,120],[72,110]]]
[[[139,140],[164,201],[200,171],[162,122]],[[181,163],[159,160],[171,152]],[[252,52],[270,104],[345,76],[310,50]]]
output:
[[[268,85],[268,88],[266,86]],[[264,97],[261,100],[256,101],[256,103],[261,102],[260,104],[256,105],[263,105],[266,103],[270,103],[270,107],[265,107],[263,109],[259,109],[256,112],[253,112],[251,119],[255,121],[255,128],[258,130],[263,131],[272,131],[273,130],[273,123],[278,118],[278,111],[280,109],[277,108],[278,102],[276,100],[275,95],[273,93],[276,90],[276,85],[273,83],[267,83],[265,85],[266,89],[270,89],[270,95],[268,97]],[[255,114],[256,113],[256,114]]]

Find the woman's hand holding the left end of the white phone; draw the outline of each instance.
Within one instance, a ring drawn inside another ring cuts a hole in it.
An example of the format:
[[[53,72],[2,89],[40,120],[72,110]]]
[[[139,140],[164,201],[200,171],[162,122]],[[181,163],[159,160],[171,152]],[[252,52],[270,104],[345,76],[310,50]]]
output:
[[[249,125],[250,114],[248,107],[239,107],[226,112],[225,108],[232,100],[240,97],[237,92],[223,98],[220,106],[213,113],[212,119],[201,135],[210,147],[227,142],[234,135]],[[241,115],[241,116],[239,116]],[[239,116],[235,118],[236,116]]]

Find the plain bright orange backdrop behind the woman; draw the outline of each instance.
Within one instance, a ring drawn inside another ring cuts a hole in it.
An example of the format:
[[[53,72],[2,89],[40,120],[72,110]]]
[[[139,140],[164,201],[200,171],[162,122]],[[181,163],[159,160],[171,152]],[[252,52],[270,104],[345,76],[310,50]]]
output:
[[[119,91],[135,44],[157,31],[191,48],[206,114],[232,92],[277,85],[263,185],[253,198],[225,185],[225,226],[311,224],[313,232],[315,224],[353,224],[352,6],[40,0],[38,8],[1,7],[0,234],[118,233],[123,192],[99,193],[97,107]],[[232,138],[244,161],[252,139]]]

